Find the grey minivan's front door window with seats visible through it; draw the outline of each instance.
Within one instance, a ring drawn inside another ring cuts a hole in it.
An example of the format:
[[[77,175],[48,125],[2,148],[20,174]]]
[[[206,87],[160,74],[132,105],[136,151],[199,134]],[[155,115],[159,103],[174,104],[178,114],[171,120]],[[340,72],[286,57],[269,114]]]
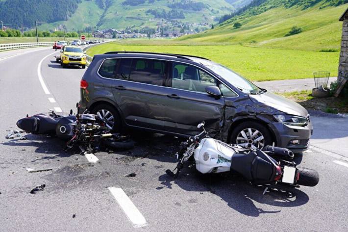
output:
[[[194,66],[173,62],[172,87],[205,93],[208,86],[216,86],[217,80]]]

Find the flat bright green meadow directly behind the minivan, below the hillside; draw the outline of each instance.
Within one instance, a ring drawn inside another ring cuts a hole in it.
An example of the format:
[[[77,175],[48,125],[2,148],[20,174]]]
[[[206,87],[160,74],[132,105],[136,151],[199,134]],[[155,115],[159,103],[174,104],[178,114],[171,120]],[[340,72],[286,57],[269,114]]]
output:
[[[241,45],[193,43],[173,40],[122,40],[93,47],[89,55],[110,51],[165,52],[198,55],[221,63],[253,81],[312,77],[313,71],[327,70],[337,76],[339,52],[314,52],[253,48]]]

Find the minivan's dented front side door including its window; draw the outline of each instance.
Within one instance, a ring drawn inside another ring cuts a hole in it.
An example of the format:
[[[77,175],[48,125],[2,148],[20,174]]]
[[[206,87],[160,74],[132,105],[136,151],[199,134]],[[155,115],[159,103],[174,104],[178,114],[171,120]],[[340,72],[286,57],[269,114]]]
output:
[[[193,135],[197,124],[205,121],[208,129],[219,131],[223,123],[224,97],[208,94],[208,86],[218,86],[218,79],[197,66],[171,62],[167,86],[165,129]]]

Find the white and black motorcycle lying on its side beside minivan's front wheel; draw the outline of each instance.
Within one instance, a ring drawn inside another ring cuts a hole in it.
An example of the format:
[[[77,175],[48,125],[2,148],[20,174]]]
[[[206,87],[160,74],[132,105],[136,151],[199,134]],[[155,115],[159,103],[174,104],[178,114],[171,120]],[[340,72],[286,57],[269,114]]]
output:
[[[288,161],[294,158],[288,149],[266,146],[261,151],[226,144],[210,138],[204,122],[198,128],[203,131],[180,144],[176,154],[178,164],[173,171],[166,170],[168,175],[177,178],[184,163],[193,155],[197,170],[203,174],[235,171],[252,184],[266,186],[315,186],[319,182],[317,171],[297,167],[295,162]]]

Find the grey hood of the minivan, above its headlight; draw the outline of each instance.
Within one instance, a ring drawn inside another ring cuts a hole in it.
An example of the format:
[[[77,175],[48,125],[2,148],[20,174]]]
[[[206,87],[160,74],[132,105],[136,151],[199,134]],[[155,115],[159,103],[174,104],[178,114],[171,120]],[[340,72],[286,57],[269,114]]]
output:
[[[250,94],[249,97],[253,101],[266,104],[287,114],[297,115],[301,117],[307,117],[308,115],[308,111],[300,104],[270,92],[256,95]]]

